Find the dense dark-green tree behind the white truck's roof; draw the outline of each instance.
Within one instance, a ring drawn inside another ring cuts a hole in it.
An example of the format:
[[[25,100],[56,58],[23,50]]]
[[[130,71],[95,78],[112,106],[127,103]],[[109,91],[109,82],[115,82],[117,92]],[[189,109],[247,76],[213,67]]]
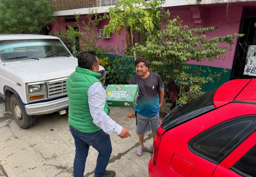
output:
[[[49,0],[1,0],[0,33],[41,33],[55,21]]]

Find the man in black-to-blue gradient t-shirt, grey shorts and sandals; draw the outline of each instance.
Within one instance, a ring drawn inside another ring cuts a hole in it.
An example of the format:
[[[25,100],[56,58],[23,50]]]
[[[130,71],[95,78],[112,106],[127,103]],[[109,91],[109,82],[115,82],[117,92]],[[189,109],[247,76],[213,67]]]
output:
[[[130,78],[129,84],[139,85],[139,97],[135,106],[136,133],[139,137],[139,147],[136,155],[141,156],[145,146],[144,135],[152,131],[153,141],[159,126],[159,110],[164,101],[164,85],[159,74],[149,72],[149,61],[137,58],[134,62],[136,75]],[[150,146],[153,149],[153,146]]]

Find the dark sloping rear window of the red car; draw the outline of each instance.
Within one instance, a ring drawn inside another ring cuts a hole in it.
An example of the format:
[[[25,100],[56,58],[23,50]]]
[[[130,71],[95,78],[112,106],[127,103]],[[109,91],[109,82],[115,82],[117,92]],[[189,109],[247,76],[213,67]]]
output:
[[[209,110],[214,109],[213,96],[217,89],[204,93],[203,95],[191,100],[183,105],[176,112],[167,114],[164,122],[161,125],[162,129],[169,130],[188,120],[193,119]]]

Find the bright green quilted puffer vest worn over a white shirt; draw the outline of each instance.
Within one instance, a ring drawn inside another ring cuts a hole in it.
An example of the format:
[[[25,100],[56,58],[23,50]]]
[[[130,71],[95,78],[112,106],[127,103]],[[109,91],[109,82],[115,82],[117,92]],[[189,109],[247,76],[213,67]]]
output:
[[[100,127],[93,123],[87,95],[89,87],[95,82],[100,82],[98,80],[100,76],[100,74],[92,70],[76,67],[75,72],[66,81],[69,102],[68,122],[69,125],[81,132],[91,133],[101,130]],[[104,111],[109,115],[110,110],[106,101]]]

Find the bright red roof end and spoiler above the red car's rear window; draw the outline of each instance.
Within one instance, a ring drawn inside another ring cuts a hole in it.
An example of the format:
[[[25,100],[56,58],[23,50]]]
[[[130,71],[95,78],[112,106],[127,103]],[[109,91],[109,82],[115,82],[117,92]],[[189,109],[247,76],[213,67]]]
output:
[[[220,86],[213,97],[216,108],[229,102],[256,104],[256,79],[235,79]]]

